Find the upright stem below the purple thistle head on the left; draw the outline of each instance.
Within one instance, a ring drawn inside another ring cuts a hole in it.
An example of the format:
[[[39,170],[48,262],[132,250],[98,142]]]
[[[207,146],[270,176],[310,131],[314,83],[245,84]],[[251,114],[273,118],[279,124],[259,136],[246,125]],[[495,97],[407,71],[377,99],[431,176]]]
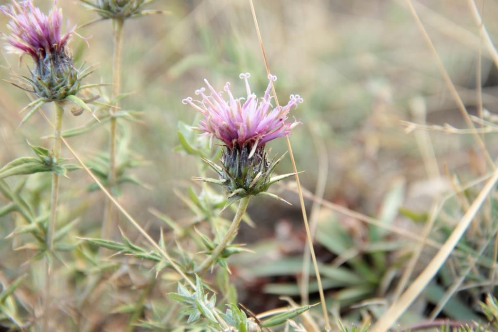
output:
[[[61,131],[62,131],[62,115],[64,114],[64,108],[58,102],[55,104],[55,127],[54,127],[54,145],[53,145],[53,157],[55,159],[60,157],[61,154]],[[54,250],[54,234],[55,234],[55,224],[57,223],[57,202],[59,200],[59,175],[52,172],[52,189],[50,194],[50,217],[48,220],[47,227],[47,238],[46,246],[48,254],[51,254]],[[44,289],[44,303],[43,303],[43,328],[42,331],[48,330],[48,313],[50,312],[50,286],[52,280],[50,278],[52,266],[47,257],[46,259],[46,270],[45,270],[45,289]]]

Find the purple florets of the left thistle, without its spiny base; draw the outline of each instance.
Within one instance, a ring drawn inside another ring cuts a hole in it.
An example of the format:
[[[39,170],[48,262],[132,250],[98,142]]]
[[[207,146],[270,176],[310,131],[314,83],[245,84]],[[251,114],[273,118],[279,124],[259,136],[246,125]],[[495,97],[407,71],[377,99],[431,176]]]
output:
[[[69,37],[74,27],[61,34],[62,11],[57,8],[57,1],[48,16],[33,5],[32,0],[2,6],[1,11],[10,18],[7,24],[10,35],[7,41],[22,54],[29,54],[35,60],[49,54],[65,54]]]

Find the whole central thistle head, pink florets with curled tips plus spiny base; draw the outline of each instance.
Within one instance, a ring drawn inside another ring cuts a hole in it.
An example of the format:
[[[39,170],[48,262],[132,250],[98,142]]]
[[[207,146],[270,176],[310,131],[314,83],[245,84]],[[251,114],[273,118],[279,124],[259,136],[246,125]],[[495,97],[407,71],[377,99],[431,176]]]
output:
[[[207,80],[209,89],[201,88],[195,93],[201,100],[186,98],[184,104],[189,104],[204,117],[199,127],[202,135],[217,138],[225,144],[221,165],[205,160],[218,173],[219,180],[196,178],[197,180],[213,182],[222,185],[231,201],[236,201],[249,195],[266,194],[269,186],[283,180],[292,174],[272,177],[278,160],[270,159],[265,150],[265,144],[275,138],[286,136],[299,122],[287,121],[288,113],[302,102],[299,95],[291,95],[285,106],[273,107],[270,90],[276,76],[268,76],[268,86],[262,98],[258,99],[251,93],[248,78],[249,73],[241,74],[246,83],[247,98],[234,98],[230,91],[230,83],[224,87],[228,98],[223,98],[222,92],[217,92]]]

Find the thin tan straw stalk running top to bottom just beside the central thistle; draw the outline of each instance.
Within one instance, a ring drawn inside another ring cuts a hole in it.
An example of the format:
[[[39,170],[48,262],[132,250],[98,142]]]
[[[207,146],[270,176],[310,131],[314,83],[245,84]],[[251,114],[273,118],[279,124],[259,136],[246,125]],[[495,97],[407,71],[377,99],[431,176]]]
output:
[[[268,59],[266,58],[266,52],[264,51],[263,39],[261,37],[261,32],[259,31],[259,25],[257,23],[256,11],[254,9],[254,3],[252,3],[252,0],[249,0],[249,5],[250,5],[251,13],[252,13],[252,19],[254,21],[254,27],[256,29],[257,39],[259,41],[259,47],[261,49],[261,54],[263,56],[263,61],[264,61],[264,66],[266,68],[266,73],[268,75],[270,75],[271,71],[270,71],[270,67],[268,65]],[[271,92],[273,93],[273,97],[275,98],[275,104],[276,104],[276,107],[278,108],[279,107],[278,98],[277,98],[277,94],[275,92],[275,86],[274,86],[272,81],[271,81]],[[310,231],[310,227],[308,224],[308,217],[306,216],[306,208],[304,206],[303,193],[301,190],[301,183],[299,182],[299,175],[297,172],[296,161],[294,159],[294,154],[292,152],[292,145],[290,144],[289,136],[285,136],[285,139],[287,141],[287,149],[289,150],[289,157],[290,157],[290,160],[292,163],[292,168],[294,170],[294,173],[296,173],[296,183],[297,183],[297,191],[299,194],[299,203],[301,204],[301,211],[303,213],[303,221],[304,221],[304,227],[306,228],[306,236],[307,236],[307,240],[308,240],[308,246],[310,248],[311,258],[313,260],[313,265],[315,268],[315,274],[316,274],[316,279],[317,279],[317,283],[318,283],[318,291],[320,293],[320,302],[322,304],[323,319],[325,321],[325,330],[331,331],[329,316],[327,313],[327,305],[325,303],[325,295],[323,294],[322,279],[320,277],[320,271],[318,270],[318,264],[316,262],[315,250],[313,248],[313,238],[311,236],[311,231]]]

